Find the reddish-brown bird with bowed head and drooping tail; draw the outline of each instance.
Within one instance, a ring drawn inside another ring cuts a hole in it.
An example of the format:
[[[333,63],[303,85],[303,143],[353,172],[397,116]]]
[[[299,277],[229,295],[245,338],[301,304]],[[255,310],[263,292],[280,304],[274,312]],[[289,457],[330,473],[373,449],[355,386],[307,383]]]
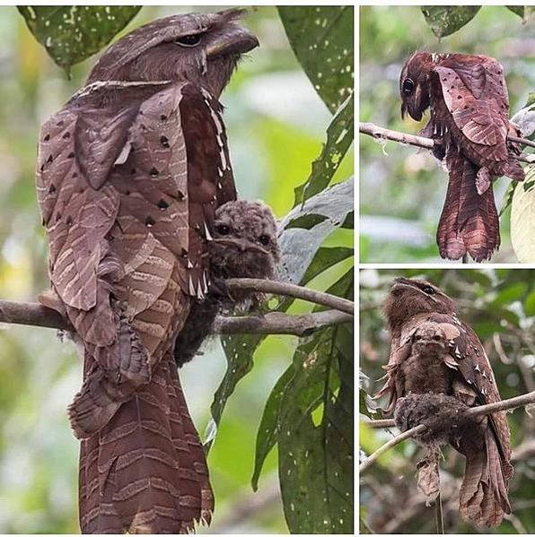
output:
[[[431,109],[423,134],[441,142],[434,154],[450,176],[436,235],[440,255],[489,259],[500,246],[492,181],[524,178],[514,158],[519,147],[507,143],[518,133],[502,65],[488,56],[417,52],[403,66],[399,91],[402,116],[419,121]]]

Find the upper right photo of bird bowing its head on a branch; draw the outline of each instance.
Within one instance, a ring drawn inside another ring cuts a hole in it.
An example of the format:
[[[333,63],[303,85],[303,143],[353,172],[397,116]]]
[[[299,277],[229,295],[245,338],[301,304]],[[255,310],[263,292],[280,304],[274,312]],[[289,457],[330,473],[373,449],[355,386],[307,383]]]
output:
[[[529,9],[359,15],[360,261],[534,263]]]

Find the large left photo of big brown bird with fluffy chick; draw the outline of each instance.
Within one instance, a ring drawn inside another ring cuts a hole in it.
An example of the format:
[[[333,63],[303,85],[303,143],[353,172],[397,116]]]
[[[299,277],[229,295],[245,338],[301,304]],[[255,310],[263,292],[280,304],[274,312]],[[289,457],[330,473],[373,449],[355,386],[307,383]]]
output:
[[[0,535],[355,533],[355,13],[0,5]]]

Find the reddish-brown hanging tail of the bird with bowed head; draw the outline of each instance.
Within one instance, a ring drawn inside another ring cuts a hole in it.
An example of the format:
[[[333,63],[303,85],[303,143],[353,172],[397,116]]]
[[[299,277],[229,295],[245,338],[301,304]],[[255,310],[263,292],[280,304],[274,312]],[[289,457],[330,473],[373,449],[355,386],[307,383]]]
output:
[[[492,187],[478,194],[478,167],[451,147],[446,155],[450,181],[436,234],[440,255],[476,261],[490,258],[500,246],[498,214]]]

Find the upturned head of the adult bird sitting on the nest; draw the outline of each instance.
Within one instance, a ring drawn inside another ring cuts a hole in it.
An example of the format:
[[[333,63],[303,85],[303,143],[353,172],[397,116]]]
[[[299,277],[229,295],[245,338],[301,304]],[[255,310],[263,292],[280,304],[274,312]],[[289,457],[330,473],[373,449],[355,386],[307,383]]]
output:
[[[397,278],[385,300],[384,313],[392,327],[421,313],[454,314],[455,302],[429,281]]]

